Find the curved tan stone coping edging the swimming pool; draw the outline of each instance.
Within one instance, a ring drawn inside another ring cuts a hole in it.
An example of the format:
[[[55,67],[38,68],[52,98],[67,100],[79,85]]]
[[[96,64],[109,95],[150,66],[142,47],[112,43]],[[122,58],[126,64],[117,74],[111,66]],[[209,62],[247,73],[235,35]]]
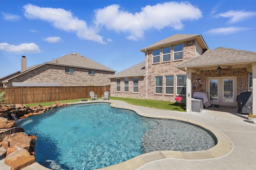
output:
[[[218,143],[207,150],[201,150],[201,151],[190,151],[190,152],[183,152],[183,151],[173,151],[173,150],[159,150],[154,152],[148,152],[145,154],[138,155],[134,158],[131,158],[129,160],[126,160],[124,162],[121,162],[119,164],[115,164],[112,166],[99,168],[97,170],[136,170],[138,168],[141,168],[145,166],[148,163],[156,162],[159,160],[164,159],[179,159],[179,160],[210,160],[210,159],[216,159],[216,158],[222,158],[223,156],[226,156],[230,152],[234,150],[234,145],[230,141],[230,139],[222,132],[220,132],[218,129],[215,129],[213,127],[210,127],[208,125],[205,125],[203,123],[199,123],[197,121],[193,121],[190,119],[184,119],[181,117],[173,117],[173,116],[159,116],[159,115],[149,115],[146,113],[143,113],[139,109],[132,108],[132,107],[120,107],[116,106],[114,102],[108,101],[108,100],[93,100],[93,101],[86,101],[86,102],[76,102],[71,103],[73,104],[85,104],[85,103],[98,103],[98,102],[106,102],[110,103],[111,107],[115,108],[122,108],[122,109],[129,109],[132,111],[135,111],[138,115],[144,116],[144,117],[151,117],[151,118],[160,118],[160,119],[172,119],[172,120],[179,120],[184,121],[188,123],[192,123],[195,125],[198,125],[204,129],[207,129],[211,131],[217,138]],[[48,168],[38,164],[37,162],[27,166],[24,168],[24,170],[30,170],[32,169],[38,169],[38,170],[48,170]]]

